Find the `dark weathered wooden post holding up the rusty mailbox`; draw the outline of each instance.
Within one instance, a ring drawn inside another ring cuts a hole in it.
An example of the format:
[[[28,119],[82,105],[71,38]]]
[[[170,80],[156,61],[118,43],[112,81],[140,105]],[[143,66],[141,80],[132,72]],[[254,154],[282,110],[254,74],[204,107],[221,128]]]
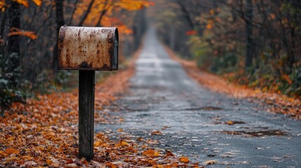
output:
[[[95,71],[79,71],[79,158],[93,158]]]

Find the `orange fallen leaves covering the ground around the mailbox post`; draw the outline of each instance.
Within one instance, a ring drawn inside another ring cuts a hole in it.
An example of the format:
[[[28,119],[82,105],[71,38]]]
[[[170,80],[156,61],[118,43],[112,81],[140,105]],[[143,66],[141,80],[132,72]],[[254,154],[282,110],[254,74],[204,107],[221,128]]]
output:
[[[125,92],[134,68],[95,86],[95,123],[121,123],[102,110]],[[78,158],[78,90],[39,95],[13,104],[0,118],[0,167],[197,167],[189,158],[154,148],[152,139],[95,133],[94,158]],[[123,130],[117,130],[122,132]]]

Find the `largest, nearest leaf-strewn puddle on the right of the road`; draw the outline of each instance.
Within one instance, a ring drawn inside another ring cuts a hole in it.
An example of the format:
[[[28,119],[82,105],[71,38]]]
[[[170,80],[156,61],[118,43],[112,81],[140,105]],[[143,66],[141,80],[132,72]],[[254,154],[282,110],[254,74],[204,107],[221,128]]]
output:
[[[260,131],[222,131],[222,134],[242,135],[246,137],[266,137],[266,136],[288,136],[288,133],[281,130],[260,130]]]

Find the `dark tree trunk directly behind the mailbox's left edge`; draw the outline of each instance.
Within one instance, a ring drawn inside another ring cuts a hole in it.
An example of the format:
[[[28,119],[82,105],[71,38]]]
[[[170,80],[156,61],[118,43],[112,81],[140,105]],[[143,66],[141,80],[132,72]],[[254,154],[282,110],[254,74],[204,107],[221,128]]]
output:
[[[53,73],[58,73],[58,34],[60,31],[60,27],[65,25],[64,22],[64,0],[56,0],[55,1],[55,16],[56,16],[56,43],[53,49]]]

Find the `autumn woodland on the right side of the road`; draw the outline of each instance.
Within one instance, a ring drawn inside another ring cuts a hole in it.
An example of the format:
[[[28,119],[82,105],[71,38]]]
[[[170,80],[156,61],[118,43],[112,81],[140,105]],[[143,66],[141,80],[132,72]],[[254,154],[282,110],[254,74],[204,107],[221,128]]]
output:
[[[161,40],[206,71],[301,96],[301,1],[156,1]],[[164,9],[164,10],[163,10]]]

